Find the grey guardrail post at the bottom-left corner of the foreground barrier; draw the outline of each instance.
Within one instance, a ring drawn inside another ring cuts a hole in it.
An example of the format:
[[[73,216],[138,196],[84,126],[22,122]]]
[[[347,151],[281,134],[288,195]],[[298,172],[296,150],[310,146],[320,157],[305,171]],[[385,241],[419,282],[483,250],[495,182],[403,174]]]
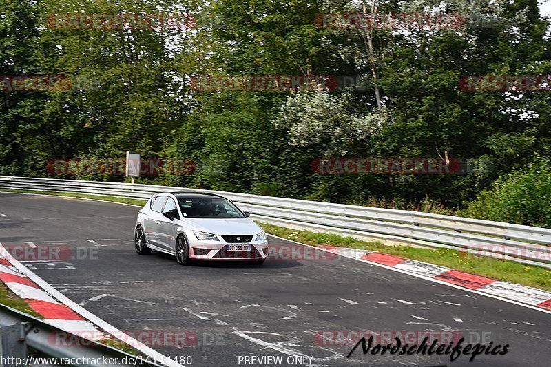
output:
[[[27,343],[25,342],[25,324],[18,323],[0,328],[0,366],[18,367],[16,360],[27,358]],[[19,367],[21,365],[19,364]]]

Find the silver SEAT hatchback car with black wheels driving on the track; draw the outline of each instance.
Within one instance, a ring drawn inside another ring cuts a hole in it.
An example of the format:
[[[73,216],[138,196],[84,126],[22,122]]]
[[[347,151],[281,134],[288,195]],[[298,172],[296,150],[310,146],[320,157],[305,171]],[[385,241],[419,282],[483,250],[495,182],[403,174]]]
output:
[[[262,227],[227,198],[210,193],[160,193],[138,212],[134,247],[192,260],[245,260],[262,264],[268,240]]]

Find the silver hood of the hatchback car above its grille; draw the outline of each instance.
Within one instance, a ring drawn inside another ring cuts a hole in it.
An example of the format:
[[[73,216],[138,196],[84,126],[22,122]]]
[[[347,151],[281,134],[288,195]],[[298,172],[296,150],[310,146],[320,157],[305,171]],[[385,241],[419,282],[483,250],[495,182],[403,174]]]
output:
[[[192,224],[198,231],[217,235],[256,235],[262,232],[262,227],[249,218],[216,219],[187,218],[185,222]]]

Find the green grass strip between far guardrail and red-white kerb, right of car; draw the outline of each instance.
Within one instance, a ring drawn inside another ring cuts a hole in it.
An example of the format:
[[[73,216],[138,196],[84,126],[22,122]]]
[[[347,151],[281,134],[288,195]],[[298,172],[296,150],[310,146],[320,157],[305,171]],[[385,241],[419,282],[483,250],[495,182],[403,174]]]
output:
[[[335,247],[350,247],[366,249],[401,256],[446,266],[448,268],[466,271],[468,273],[491,277],[505,282],[513,282],[524,286],[551,291],[551,270],[541,266],[530,266],[508,260],[492,258],[477,258],[474,255],[449,249],[419,249],[411,246],[387,246],[380,242],[366,242],[351,237],[342,237],[329,233],[313,233],[297,231],[270,224],[261,224],[264,231],[282,238],[311,244],[313,246],[329,245]]]

